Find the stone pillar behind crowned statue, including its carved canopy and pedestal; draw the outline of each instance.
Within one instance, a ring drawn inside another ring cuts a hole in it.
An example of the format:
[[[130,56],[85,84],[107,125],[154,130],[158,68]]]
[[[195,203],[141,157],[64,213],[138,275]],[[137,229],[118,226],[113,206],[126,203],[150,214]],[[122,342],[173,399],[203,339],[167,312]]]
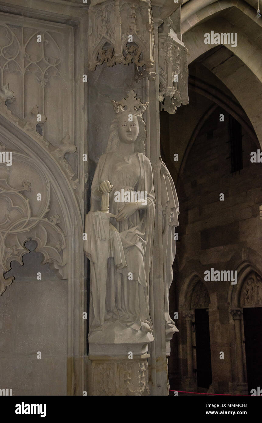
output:
[[[102,330],[91,330],[88,337],[88,372],[89,380],[92,380],[92,387],[88,388],[90,395],[148,395],[149,389],[151,395],[168,395],[160,183],[158,27],[180,5],[170,2],[168,7],[164,7],[160,0],[152,4],[153,8],[149,0],[91,0],[88,9],[88,82],[97,107],[96,115],[94,107],[89,108],[88,117],[92,122],[91,131],[94,127],[94,133],[90,134],[90,139],[95,139],[93,150],[98,148],[101,154],[105,152],[106,146],[100,145],[99,140],[102,143],[105,136],[108,136],[108,132],[102,132],[103,129],[108,131],[113,118],[110,115],[112,105],[108,107],[108,99],[116,100],[115,106],[119,106],[119,110],[123,112],[121,106],[124,103],[120,104],[118,100],[121,96],[124,96],[122,100],[126,100],[127,91],[132,88],[141,99],[144,111],[146,110],[146,156],[152,165],[156,199],[149,278],[149,314],[153,332],[145,332],[143,337],[133,336],[135,332],[131,328],[118,330],[117,323],[111,325],[111,332],[105,329],[104,324]],[[174,59],[179,61],[178,50],[174,50]],[[106,70],[106,65],[109,71]],[[132,66],[134,72],[131,72]],[[103,80],[105,74],[106,81]],[[91,102],[90,95],[89,101]],[[102,102],[105,102],[103,108],[100,106]],[[115,112],[119,113],[119,110]],[[136,107],[135,111],[137,110]],[[97,163],[98,152],[93,155],[94,158],[91,159]],[[99,272],[102,271],[106,275],[106,262],[99,268]],[[90,322],[93,319],[94,315],[90,315]]]

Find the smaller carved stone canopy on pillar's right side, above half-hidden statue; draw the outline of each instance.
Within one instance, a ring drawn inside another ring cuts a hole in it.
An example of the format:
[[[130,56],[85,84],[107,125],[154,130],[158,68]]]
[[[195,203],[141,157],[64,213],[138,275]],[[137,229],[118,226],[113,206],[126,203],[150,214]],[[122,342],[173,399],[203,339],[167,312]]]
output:
[[[187,48],[173,31],[173,22],[166,19],[159,32],[159,99],[161,110],[176,113],[181,104],[188,104]]]

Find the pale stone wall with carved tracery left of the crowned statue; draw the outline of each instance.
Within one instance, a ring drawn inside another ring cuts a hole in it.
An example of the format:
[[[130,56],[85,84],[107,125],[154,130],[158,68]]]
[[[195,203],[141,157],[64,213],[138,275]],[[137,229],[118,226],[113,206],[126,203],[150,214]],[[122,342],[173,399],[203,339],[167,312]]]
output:
[[[11,3],[0,5],[0,151],[13,154],[0,163],[0,389],[83,395],[88,8]]]

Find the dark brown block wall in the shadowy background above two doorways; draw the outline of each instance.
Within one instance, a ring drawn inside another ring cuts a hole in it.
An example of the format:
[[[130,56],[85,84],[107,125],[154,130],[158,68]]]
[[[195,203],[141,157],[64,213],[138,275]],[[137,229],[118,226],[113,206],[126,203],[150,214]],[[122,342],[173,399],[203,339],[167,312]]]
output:
[[[224,122],[219,120],[221,113],[224,114]],[[190,308],[190,280],[197,275],[204,281],[205,270],[235,270],[245,261],[259,266],[256,255],[261,258],[262,253],[262,227],[259,220],[262,166],[261,163],[250,161],[251,151],[259,148],[258,142],[242,130],[243,169],[240,173],[231,174],[228,119],[223,109],[215,110],[196,137],[185,170],[179,175],[179,242],[174,275],[177,298],[173,291],[171,316],[179,309],[180,321],[179,333],[172,341],[169,359],[171,386],[176,385],[174,389],[179,384],[178,374],[182,380],[187,375],[187,329],[182,311]],[[221,193],[224,194],[224,201],[219,200]],[[261,263],[260,259],[260,266]],[[228,291],[232,285],[230,282],[204,284],[210,295],[212,387],[218,393],[225,393],[232,389],[237,372],[234,364],[236,351],[232,341],[234,328],[229,315],[231,304],[228,302]],[[172,353],[177,348],[180,368]],[[223,360],[219,359],[221,351],[225,355]]]

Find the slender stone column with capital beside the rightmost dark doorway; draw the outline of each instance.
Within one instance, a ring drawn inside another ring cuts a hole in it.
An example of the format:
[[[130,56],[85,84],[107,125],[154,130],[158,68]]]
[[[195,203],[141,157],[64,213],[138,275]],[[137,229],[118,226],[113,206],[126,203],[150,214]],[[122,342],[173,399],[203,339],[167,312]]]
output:
[[[246,391],[246,383],[244,382],[244,369],[243,369],[243,354],[242,354],[242,336],[241,336],[241,320],[243,318],[243,310],[234,308],[230,311],[235,328],[235,343],[236,343],[236,356],[237,356],[237,390],[240,393]]]

